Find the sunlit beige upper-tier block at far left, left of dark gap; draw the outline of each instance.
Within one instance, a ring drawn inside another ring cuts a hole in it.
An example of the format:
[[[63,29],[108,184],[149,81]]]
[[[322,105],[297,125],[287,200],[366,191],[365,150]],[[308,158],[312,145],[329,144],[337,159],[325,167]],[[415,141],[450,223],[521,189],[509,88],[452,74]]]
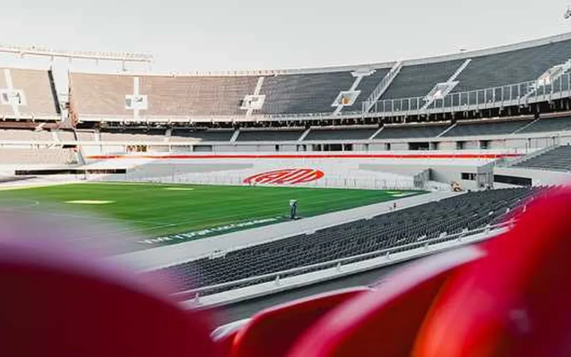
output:
[[[0,67],[0,118],[57,119],[59,108],[50,76],[49,71]],[[7,92],[9,81],[11,94]],[[19,102],[15,108],[9,97]]]

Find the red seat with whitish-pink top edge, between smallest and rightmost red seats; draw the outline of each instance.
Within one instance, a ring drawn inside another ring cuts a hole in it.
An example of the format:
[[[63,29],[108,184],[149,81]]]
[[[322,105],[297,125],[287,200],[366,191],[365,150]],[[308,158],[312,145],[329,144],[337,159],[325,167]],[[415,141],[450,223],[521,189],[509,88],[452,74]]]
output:
[[[484,254],[477,247],[462,248],[400,269],[376,291],[325,315],[288,356],[409,356],[425,314],[452,271]]]

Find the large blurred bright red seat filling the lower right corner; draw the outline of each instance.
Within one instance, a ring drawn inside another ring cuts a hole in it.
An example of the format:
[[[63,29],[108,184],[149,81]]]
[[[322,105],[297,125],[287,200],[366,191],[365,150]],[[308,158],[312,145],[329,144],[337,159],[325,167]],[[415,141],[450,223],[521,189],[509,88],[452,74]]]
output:
[[[453,273],[415,357],[571,356],[571,189],[529,204],[487,257]]]

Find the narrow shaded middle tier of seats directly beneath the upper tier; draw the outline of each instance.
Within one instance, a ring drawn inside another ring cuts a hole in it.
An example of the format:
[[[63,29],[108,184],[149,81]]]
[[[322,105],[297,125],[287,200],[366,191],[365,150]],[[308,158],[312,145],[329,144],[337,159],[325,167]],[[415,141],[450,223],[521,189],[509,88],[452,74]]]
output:
[[[0,122],[1,123],[1,122]],[[36,125],[36,124],[34,124]],[[383,140],[383,139],[416,139],[506,135],[511,133],[534,133],[566,131],[571,129],[571,116],[542,118],[539,120],[520,119],[504,121],[459,121],[451,127],[450,124],[408,124],[385,125],[381,131],[371,127],[339,127],[339,128],[312,128],[304,140]],[[297,141],[305,129],[241,129],[236,141]],[[376,133],[376,135],[375,135]],[[230,141],[234,135],[232,129],[196,130],[172,129],[170,139],[164,128],[102,128],[100,139],[102,141]],[[375,136],[373,136],[375,135]],[[57,131],[59,140],[73,141],[73,133]],[[78,140],[93,141],[93,131],[77,131]],[[0,127],[0,140],[53,140],[49,131],[33,131],[20,129],[2,129]]]

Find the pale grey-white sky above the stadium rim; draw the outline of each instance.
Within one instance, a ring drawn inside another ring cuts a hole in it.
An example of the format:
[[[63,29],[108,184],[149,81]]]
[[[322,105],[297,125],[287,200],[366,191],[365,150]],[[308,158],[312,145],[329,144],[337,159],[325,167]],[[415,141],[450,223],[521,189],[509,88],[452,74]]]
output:
[[[307,68],[449,54],[571,31],[571,0],[26,0],[0,43],[154,55],[155,71]]]

